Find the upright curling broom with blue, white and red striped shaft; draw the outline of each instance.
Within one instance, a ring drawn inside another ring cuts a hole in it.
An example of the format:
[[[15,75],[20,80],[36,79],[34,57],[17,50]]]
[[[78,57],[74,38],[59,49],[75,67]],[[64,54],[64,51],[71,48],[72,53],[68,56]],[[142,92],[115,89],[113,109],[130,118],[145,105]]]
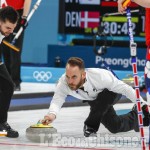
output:
[[[133,36],[133,29],[132,29],[132,21],[131,21],[131,13],[130,5],[131,1],[126,0],[123,4],[124,8],[126,9],[126,16],[127,16],[127,23],[128,23],[128,34],[130,38],[130,55],[131,55],[131,62],[132,62],[132,69],[133,69],[133,76],[134,76],[134,86],[136,91],[136,105],[137,105],[137,112],[138,112],[138,123],[139,123],[139,131],[141,136],[141,146],[142,150],[146,150],[146,141],[144,137],[144,128],[143,128],[143,118],[142,118],[142,109],[141,109],[141,101],[140,101],[140,90],[139,90],[139,80],[138,80],[138,72],[137,72],[137,60],[136,60],[136,53],[137,53],[137,44],[134,42]]]

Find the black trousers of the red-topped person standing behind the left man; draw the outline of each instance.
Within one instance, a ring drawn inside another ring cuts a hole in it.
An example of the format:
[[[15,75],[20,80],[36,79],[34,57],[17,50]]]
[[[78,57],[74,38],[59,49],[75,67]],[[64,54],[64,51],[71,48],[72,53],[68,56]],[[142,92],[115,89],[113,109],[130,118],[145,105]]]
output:
[[[18,10],[19,16],[22,16],[22,10]],[[18,24],[14,30],[14,33],[17,33],[20,29],[20,20],[18,21]],[[4,40],[8,42],[12,42],[15,35],[10,34],[8,37],[5,37]],[[15,46],[20,49],[19,52],[16,52],[12,49],[10,49],[5,44],[1,43],[1,51],[4,57],[4,63],[6,65],[6,68],[9,72],[9,74],[12,77],[12,80],[14,83],[18,86],[21,83],[21,52],[22,52],[22,46],[23,46],[23,37],[24,32],[19,36],[19,38],[15,42]]]

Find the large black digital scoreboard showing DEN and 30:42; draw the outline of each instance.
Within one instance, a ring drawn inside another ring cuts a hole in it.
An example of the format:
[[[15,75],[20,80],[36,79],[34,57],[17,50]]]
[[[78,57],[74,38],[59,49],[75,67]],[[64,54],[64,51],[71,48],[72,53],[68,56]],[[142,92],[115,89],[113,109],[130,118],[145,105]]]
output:
[[[132,3],[130,8],[137,10],[139,6]],[[117,0],[59,0],[59,33],[93,35],[95,29],[103,26],[106,34],[127,36],[125,14],[104,17],[117,11]],[[132,27],[134,36],[144,36],[144,14],[132,13]]]

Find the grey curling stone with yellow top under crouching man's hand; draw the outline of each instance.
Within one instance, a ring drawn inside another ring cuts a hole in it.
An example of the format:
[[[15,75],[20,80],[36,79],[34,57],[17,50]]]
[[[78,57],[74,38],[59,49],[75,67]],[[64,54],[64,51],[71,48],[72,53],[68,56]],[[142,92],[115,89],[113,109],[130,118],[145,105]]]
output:
[[[35,124],[26,129],[26,137],[36,143],[52,141],[52,134],[55,133],[57,133],[57,130],[51,125]]]

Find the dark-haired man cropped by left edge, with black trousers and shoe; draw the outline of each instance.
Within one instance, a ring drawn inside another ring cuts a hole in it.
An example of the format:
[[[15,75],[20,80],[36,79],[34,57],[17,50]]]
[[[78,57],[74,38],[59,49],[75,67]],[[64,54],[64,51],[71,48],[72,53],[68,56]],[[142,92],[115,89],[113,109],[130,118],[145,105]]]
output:
[[[18,13],[12,7],[0,10],[0,43],[4,37],[9,36],[17,25]],[[7,137],[18,137],[17,131],[13,130],[7,123],[7,114],[11,97],[14,92],[13,81],[0,60],[0,132],[7,133]]]

